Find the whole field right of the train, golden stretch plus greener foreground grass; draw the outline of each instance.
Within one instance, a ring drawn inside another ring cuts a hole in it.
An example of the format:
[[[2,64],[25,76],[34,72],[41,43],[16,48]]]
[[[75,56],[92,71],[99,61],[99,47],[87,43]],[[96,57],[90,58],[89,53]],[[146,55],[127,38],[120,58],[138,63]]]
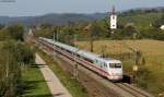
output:
[[[78,47],[90,50],[87,41],[79,41]],[[145,58],[145,65],[140,65],[148,71],[140,72],[138,86],[157,96],[164,92],[164,41],[160,40],[97,40],[94,41],[94,52],[102,54],[103,50],[109,57],[132,52],[129,48],[140,50]],[[132,71],[134,61],[122,60],[124,72]],[[139,68],[139,69],[140,69]]]

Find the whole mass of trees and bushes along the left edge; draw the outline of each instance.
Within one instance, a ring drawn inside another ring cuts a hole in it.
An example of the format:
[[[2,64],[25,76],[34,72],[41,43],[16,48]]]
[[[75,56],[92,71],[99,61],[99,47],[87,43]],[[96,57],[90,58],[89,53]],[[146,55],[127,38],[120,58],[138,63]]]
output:
[[[23,27],[0,29],[0,97],[19,97],[23,93],[22,66],[34,63],[34,52],[22,43]]]

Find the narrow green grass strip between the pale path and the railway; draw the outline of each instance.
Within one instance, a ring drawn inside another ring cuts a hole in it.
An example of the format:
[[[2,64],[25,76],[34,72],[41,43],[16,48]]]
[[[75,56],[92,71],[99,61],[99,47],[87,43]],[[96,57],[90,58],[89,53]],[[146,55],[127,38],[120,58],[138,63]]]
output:
[[[52,70],[52,72],[58,76],[63,86],[70,92],[73,97],[87,97],[86,88],[84,88],[77,80],[71,78],[72,76],[63,71],[58,63],[56,63],[51,57],[47,56],[45,52],[38,50],[42,58],[45,59],[46,63]]]

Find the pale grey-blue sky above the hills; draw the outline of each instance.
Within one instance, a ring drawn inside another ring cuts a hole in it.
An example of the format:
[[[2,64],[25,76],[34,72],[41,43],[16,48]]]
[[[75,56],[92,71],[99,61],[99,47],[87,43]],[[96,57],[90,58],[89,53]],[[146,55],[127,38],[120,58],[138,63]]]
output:
[[[164,0],[0,0],[0,16],[108,12],[112,11],[113,5],[117,11],[125,11],[164,7]]]

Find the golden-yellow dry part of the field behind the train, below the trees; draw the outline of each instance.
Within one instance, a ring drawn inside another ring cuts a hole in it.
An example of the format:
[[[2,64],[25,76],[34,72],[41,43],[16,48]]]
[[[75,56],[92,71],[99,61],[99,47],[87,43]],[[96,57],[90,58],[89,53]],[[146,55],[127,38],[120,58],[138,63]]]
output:
[[[79,41],[79,48],[90,50],[87,41]],[[164,41],[160,40],[98,40],[94,41],[94,52],[102,54],[119,54],[140,50],[147,58],[149,64],[164,63]]]

